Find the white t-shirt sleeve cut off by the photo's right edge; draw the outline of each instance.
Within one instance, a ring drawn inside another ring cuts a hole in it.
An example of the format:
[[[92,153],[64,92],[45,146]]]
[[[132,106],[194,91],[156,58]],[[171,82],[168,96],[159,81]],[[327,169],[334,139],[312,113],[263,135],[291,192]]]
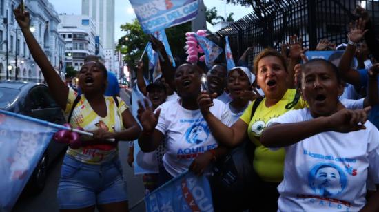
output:
[[[379,131],[371,125],[369,132],[369,178],[374,184],[379,184]]]

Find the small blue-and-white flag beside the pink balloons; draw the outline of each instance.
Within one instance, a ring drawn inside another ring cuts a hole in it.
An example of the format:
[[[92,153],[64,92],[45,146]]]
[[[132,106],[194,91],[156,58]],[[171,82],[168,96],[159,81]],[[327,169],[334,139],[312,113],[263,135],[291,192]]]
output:
[[[212,62],[217,59],[221,52],[223,52],[223,49],[216,45],[216,43],[213,43],[203,36],[198,36],[195,34],[195,37],[198,45],[200,45],[200,47],[204,50],[205,64],[210,68],[212,66]]]

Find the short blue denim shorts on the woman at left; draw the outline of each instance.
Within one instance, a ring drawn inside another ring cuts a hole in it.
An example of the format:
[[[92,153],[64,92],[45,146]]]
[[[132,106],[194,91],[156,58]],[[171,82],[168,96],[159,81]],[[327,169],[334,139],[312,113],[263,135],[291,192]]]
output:
[[[88,165],[66,155],[57,196],[60,209],[127,201],[126,181],[119,158],[102,165]]]

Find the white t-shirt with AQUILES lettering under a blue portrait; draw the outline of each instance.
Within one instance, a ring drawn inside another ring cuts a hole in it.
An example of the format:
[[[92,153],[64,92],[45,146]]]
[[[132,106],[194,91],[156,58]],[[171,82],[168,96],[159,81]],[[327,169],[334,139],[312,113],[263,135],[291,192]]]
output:
[[[231,125],[227,105],[216,99],[213,103],[209,111],[225,125]],[[176,177],[189,168],[196,156],[216,148],[217,142],[200,109],[185,109],[179,100],[167,101],[158,108],[161,108],[161,114],[156,129],[165,136],[163,166]]]

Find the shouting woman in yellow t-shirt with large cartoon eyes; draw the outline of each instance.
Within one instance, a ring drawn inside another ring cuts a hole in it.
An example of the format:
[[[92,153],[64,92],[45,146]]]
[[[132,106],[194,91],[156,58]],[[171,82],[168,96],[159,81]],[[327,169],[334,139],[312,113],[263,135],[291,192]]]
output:
[[[246,136],[256,145],[253,166],[257,173],[255,205],[262,211],[276,211],[278,209],[278,191],[276,187],[283,180],[284,149],[270,151],[260,144],[259,138],[263,129],[270,124],[272,118],[278,117],[289,109],[299,109],[306,106],[303,100],[294,101],[296,89],[288,89],[289,83],[285,59],[276,50],[265,49],[254,59],[256,80],[265,93],[265,98],[256,108],[252,116],[254,102],[250,103],[240,119],[227,127],[223,125],[212,113],[209,105],[212,99],[203,92],[198,98],[201,112],[212,133],[223,145],[236,147]],[[293,103],[293,107],[286,105]],[[252,118],[251,118],[252,117]]]

